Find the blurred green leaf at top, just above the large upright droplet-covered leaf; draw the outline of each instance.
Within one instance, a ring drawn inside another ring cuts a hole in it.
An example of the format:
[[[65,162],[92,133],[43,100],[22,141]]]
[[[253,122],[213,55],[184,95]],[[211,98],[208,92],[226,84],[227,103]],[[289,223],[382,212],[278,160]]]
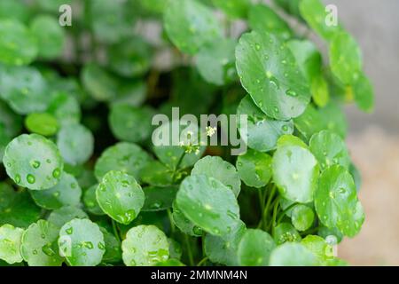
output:
[[[260,32],[267,31],[284,39],[288,39],[293,35],[293,31],[286,21],[266,4],[254,4],[251,6],[248,24],[249,28]]]

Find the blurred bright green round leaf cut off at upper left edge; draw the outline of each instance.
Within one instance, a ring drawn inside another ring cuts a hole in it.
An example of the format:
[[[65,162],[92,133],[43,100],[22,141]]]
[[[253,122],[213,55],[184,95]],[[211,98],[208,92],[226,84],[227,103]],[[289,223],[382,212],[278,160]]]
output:
[[[0,38],[1,63],[27,65],[37,56],[35,36],[18,20],[0,20]]]

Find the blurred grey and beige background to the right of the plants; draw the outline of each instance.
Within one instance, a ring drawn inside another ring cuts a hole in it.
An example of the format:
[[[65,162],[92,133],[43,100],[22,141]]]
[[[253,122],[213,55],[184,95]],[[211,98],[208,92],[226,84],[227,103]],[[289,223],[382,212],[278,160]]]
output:
[[[363,176],[363,230],[342,241],[339,256],[354,265],[399,265],[399,12],[398,0],[324,0],[336,4],[356,37],[372,79],[375,110],[347,108],[348,147]]]

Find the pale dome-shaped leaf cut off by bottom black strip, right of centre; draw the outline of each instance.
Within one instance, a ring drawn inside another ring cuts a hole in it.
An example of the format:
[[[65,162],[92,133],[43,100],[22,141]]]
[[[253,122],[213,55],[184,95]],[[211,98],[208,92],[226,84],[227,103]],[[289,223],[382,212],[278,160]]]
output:
[[[274,249],[270,255],[270,266],[315,266],[317,257],[303,245],[286,242]]]

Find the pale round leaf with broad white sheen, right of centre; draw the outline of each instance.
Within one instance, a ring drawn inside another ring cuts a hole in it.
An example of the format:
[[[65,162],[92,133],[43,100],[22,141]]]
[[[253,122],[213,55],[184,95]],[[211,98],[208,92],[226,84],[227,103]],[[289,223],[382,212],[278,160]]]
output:
[[[317,187],[317,160],[301,146],[282,146],[273,155],[273,180],[278,191],[290,201],[313,201]]]

